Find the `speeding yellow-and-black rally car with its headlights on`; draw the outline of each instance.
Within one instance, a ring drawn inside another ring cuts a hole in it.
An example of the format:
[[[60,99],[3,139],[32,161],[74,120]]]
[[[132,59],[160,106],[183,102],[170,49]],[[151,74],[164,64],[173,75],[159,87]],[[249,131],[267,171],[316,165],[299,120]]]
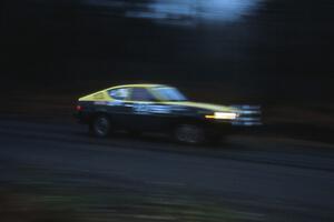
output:
[[[78,100],[76,117],[99,138],[117,130],[165,132],[189,144],[216,140],[240,125],[261,124],[258,107],[191,102],[164,84],[118,85],[88,94]]]

